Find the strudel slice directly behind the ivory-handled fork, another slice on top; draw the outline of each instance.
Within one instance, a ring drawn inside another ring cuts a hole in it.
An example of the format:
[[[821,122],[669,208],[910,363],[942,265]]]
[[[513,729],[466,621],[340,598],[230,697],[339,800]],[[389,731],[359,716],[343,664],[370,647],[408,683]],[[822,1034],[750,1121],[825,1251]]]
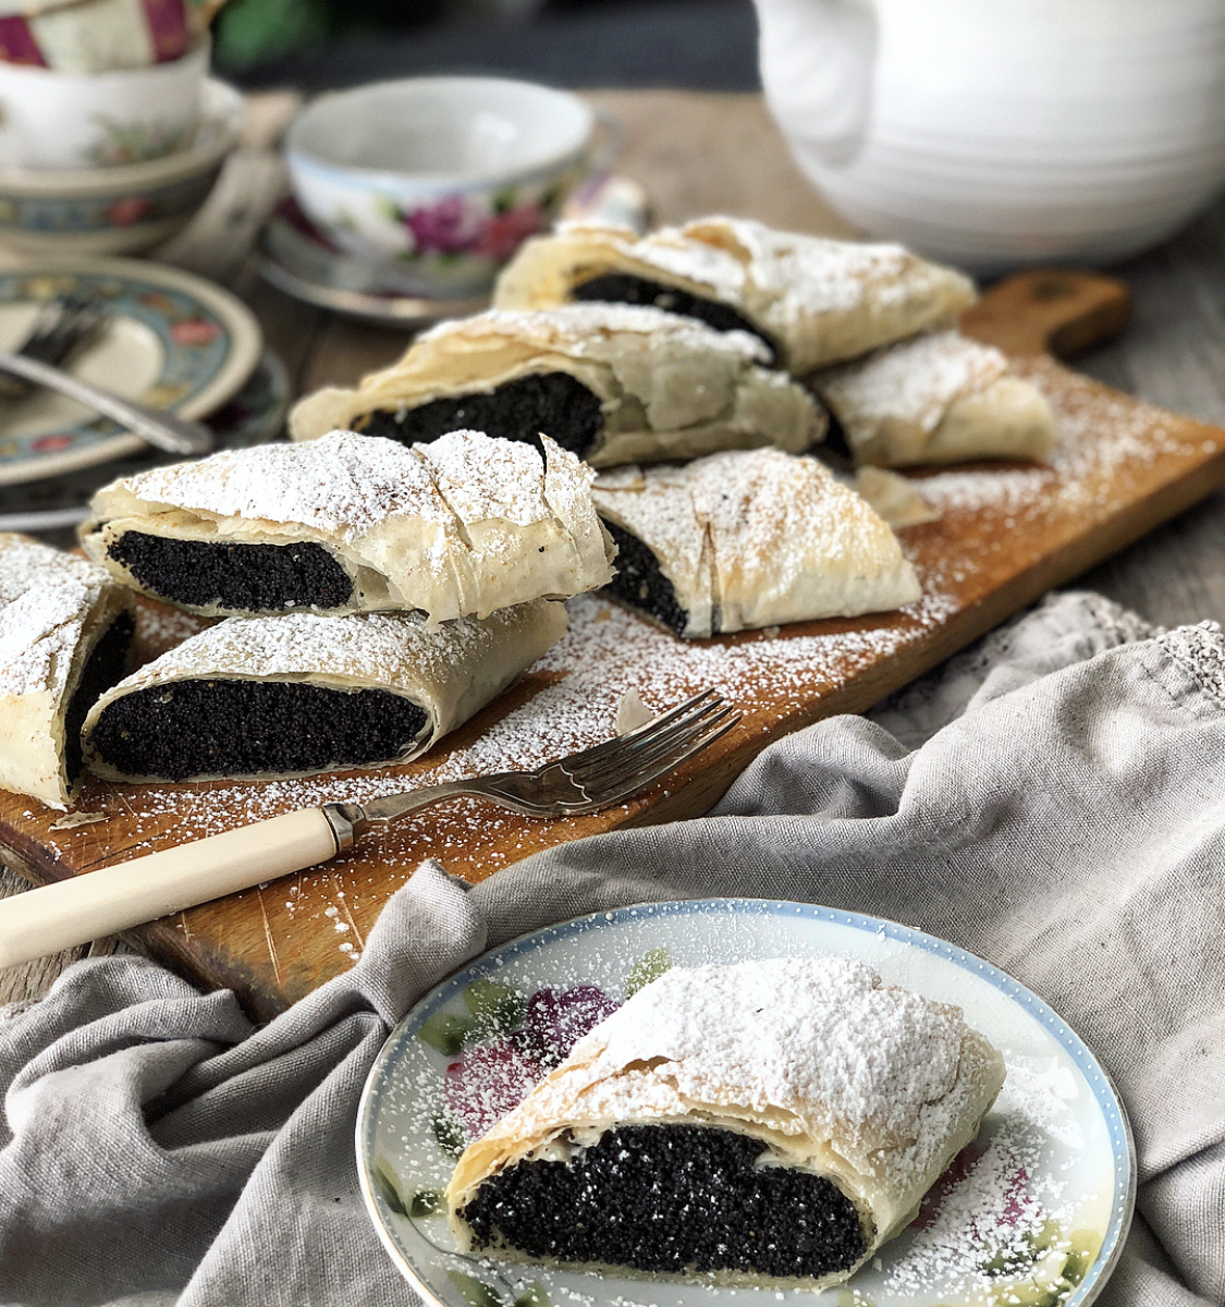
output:
[[[270,779],[407,762],[565,633],[537,600],[436,626],[419,613],[232,617],[94,704],[90,770],[120,780]]]

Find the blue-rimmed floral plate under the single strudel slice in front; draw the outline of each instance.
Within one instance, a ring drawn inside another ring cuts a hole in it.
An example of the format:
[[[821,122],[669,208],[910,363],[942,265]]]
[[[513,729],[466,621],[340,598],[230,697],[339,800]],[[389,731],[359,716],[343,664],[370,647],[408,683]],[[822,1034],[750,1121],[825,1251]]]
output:
[[[1084,1307],[1115,1265],[1135,1205],[1122,1103],[1041,999],[932,936],[854,912],[761,899],[653,903],[579,918],[486,954],[423,999],[380,1053],[357,1127],[367,1208],[396,1265],[441,1307],[765,1307],[773,1290],[515,1266],[461,1255],[441,1191],[465,1144],[509,1111],[556,1053],[667,966],[857,958],[892,984],[957,1004],[1008,1078],[978,1138],[915,1222],[820,1302]],[[808,1295],[814,1297],[814,1295]]]

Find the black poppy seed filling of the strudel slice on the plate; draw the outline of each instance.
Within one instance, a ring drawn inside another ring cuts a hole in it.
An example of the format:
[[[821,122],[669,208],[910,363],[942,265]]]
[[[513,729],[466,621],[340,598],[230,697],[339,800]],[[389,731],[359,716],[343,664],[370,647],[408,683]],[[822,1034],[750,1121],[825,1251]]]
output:
[[[460,1213],[479,1248],[644,1272],[738,1270],[816,1278],[867,1249],[831,1180],[759,1166],[767,1146],[703,1125],[622,1125],[568,1162],[522,1161]]]

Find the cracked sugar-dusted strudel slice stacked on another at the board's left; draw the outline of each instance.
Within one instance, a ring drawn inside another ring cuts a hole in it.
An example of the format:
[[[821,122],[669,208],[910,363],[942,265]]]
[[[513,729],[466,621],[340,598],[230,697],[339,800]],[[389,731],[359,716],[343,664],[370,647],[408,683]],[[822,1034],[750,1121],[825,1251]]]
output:
[[[485,617],[611,576],[592,477],[547,439],[451,431],[405,448],[333,431],[115,481],[81,542],[124,584],[208,617]]]

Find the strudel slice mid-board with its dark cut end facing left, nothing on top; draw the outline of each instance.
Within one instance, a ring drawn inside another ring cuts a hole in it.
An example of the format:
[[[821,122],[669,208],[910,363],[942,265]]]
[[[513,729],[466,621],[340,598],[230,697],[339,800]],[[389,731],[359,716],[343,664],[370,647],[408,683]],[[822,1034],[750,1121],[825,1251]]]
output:
[[[619,550],[606,592],[676,635],[855,617],[919,597],[889,527],[815,459],[750,450],[618,468],[592,494]]]

